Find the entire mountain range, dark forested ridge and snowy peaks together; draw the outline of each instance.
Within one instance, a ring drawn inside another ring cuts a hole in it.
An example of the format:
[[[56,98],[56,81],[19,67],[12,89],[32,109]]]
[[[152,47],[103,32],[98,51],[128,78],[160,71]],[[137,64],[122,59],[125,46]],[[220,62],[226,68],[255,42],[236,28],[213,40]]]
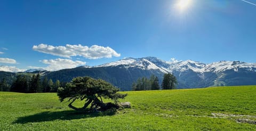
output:
[[[27,72],[31,71],[36,70]],[[100,66],[47,71],[44,77],[53,81],[70,81],[77,76],[90,76],[104,79],[122,91],[129,91],[132,83],[139,77],[150,77],[154,74],[159,83],[162,83],[164,73],[168,72],[177,77],[177,88],[256,85],[255,63],[219,61],[205,64],[192,60],[169,62],[155,57],[125,58]]]

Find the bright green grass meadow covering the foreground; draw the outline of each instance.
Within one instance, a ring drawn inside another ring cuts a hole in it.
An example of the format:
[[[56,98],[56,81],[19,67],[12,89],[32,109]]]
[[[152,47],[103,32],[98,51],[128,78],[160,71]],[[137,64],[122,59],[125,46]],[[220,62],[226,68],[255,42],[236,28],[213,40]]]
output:
[[[55,93],[0,92],[0,130],[256,130],[256,86],[124,93],[131,109],[82,113]]]

